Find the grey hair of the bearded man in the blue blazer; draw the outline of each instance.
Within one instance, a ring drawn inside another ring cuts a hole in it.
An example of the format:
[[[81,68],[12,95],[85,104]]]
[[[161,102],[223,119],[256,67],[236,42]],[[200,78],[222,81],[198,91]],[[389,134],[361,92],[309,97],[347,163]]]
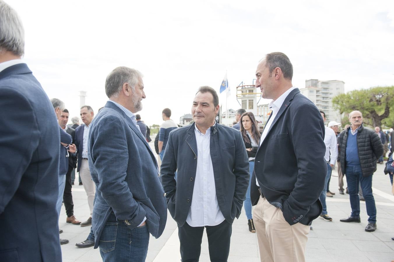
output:
[[[105,93],[108,98],[119,97],[124,83],[131,85],[134,92],[136,90],[136,85],[142,77],[141,72],[136,69],[119,66],[108,74],[105,80]]]

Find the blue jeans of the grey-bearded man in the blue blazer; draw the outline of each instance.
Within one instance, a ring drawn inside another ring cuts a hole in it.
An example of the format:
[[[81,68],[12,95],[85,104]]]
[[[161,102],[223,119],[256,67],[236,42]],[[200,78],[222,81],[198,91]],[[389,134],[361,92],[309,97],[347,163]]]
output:
[[[144,262],[148,253],[147,225],[130,229],[123,221],[110,215],[99,240],[103,262]]]

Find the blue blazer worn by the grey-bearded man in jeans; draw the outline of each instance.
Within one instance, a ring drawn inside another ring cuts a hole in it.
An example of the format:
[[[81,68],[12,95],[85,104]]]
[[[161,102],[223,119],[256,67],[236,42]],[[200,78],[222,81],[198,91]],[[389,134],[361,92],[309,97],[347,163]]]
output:
[[[167,221],[167,205],[156,158],[138,127],[110,101],[91,122],[88,154],[97,188],[95,248],[111,212],[118,220],[128,220],[119,223],[130,229],[146,217],[149,232],[158,238]]]

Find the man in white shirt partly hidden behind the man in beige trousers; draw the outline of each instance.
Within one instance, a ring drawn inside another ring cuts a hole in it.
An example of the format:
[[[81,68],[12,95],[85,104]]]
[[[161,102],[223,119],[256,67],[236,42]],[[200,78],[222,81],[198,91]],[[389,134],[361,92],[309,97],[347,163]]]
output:
[[[325,113],[320,111],[322,114],[323,121],[325,122]],[[338,144],[336,141],[336,135],[333,129],[330,127],[324,126],[325,136],[324,136],[324,144],[325,144],[325,155],[324,159],[327,162],[327,175],[325,177],[324,189],[320,194],[320,202],[322,202],[323,211],[320,214],[320,218],[323,218],[325,221],[333,221],[333,219],[327,214],[327,205],[325,203],[325,198],[327,195],[327,183],[331,177],[331,172],[333,171],[333,167],[335,165],[336,158],[338,157]]]

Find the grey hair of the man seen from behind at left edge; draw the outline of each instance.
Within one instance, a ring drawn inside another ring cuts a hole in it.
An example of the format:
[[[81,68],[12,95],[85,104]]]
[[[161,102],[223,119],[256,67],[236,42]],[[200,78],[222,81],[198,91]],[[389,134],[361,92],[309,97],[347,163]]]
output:
[[[0,52],[24,54],[24,30],[17,12],[0,0]]]

